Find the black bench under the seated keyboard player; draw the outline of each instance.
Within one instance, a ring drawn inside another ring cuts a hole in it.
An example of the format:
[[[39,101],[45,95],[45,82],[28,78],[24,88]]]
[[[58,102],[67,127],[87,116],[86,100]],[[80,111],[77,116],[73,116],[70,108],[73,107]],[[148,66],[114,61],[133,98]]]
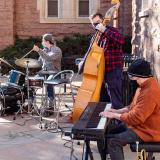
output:
[[[131,143],[130,149],[132,152],[137,152],[137,144]],[[146,159],[144,160],[155,160],[153,153],[160,152],[160,142],[140,142],[138,144],[138,151],[145,150],[147,153]],[[140,160],[143,160],[142,158]]]

